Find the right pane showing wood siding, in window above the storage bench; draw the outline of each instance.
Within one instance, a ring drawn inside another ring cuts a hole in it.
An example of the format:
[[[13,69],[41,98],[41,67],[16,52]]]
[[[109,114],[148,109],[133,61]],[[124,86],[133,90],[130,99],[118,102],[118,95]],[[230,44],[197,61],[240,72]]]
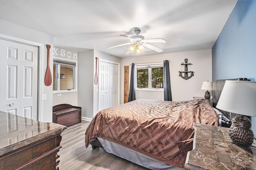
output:
[[[60,65],[60,90],[74,89],[74,66]]]

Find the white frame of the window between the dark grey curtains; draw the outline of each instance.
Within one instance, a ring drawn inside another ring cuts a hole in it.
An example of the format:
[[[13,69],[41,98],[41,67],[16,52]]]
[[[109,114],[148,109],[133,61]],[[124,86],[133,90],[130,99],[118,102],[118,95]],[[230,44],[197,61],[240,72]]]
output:
[[[158,67],[164,67],[164,62],[162,63],[143,63],[143,64],[135,64],[134,66],[134,72],[135,72],[135,90],[136,91],[164,91],[164,88],[151,88],[152,86],[152,73],[151,73],[151,68],[158,68]],[[138,69],[149,69],[148,70],[148,75],[149,75],[149,81],[148,81],[148,87],[149,88],[138,88]]]

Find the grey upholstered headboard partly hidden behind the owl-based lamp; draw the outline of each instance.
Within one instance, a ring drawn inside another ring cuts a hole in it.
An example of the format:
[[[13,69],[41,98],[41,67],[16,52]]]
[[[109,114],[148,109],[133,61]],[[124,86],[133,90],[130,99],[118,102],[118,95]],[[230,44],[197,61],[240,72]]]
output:
[[[250,81],[247,78],[233,78],[233,79],[224,79],[224,80],[213,80],[212,81],[212,102],[213,102],[213,107],[216,107],[218,104],[218,101],[220,99],[220,94],[223,90],[224,84],[226,80],[244,80],[244,81]],[[230,113],[227,111],[220,110],[228,119],[232,119],[238,114],[235,113]]]

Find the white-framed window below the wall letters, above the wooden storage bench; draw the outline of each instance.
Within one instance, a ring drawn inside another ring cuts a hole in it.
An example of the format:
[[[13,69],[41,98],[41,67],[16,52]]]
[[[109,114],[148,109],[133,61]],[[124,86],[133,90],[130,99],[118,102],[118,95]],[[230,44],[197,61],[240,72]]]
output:
[[[57,60],[53,61],[53,91],[73,92],[76,91],[76,61]]]

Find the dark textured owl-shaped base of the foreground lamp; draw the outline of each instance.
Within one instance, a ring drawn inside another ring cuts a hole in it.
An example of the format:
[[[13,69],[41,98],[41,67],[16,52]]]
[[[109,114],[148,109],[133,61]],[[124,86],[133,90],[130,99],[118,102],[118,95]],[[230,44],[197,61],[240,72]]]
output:
[[[250,147],[254,140],[250,119],[243,115],[239,115],[234,117],[231,120],[231,123],[229,136],[233,143],[240,147]]]

